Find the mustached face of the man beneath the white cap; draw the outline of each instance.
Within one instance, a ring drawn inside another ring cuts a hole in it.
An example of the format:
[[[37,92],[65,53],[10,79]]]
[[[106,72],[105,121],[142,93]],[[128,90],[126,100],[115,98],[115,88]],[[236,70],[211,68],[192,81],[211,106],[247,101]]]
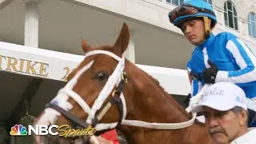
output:
[[[246,133],[247,116],[244,111],[236,114],[232,110],[219,111],[207,106],[203,107],[206,126],[214,143],[227,144]]]

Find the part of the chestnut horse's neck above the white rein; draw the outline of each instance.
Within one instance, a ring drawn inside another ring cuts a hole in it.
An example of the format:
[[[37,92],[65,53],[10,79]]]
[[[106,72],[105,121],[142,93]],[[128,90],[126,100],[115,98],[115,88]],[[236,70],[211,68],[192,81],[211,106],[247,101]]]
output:
[[[128,119],[145,122],[185,122],[189,119],[182,106],[156,80],[135,66],[129,67],[127,73],[131,82],[130,90],[126,91],[133,91],[133,94],[126,97]]]

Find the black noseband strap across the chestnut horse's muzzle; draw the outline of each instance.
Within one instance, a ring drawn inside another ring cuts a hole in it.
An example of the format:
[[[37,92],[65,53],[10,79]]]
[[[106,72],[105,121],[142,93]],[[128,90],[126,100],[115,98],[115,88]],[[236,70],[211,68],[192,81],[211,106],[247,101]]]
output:
[[[82,126],[82,128],[86,128],[88,126],[86,122],[82,121],[80,118],[78,118],[74,114],[71,114],[69,111],[66,111],[66,110],[62,109],[62,107],[60,107],[58,105],[48,103],[48,104],[46,104],[46,107],[50,107],[54,110],[57,110],[58,112],[63,114],[66,118],[69,118],[70,122],[75,122],[76,125]]]

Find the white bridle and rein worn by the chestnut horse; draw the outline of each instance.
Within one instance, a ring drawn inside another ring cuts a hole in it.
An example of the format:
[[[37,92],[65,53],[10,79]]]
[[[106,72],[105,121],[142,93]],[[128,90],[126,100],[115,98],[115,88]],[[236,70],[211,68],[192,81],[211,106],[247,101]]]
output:
[[[111,58],[114,58],[118,61],[118,65],[114,69],[113,74],[108,78],[105,86],[102,91],[99,93],[98,98],[94,101],[94,105],[90,108],[88,104],[74,92],[73,88],[78,78],[93,65],[94,61],[89,62],[86,66],[83,66],[81,70],[78,71],[77,74],[74,75],[69,82],[67,82],[66,86],[64,86],[61,90],[58,91],[57,96],[46,105],[45,115],[42,115],[41,121],[54,123],[57,120],[57,117],[60,114],[63,114],[66,118],[69,118],[70,121],[75,126],[81,126],[82,128],[93,126],[96,130],[108,130],[113,129],[116,126],[126,125],[126,126],[140,126],[150,129],[158,129],[158,130],[175,130],[182,129],[188,126],[191,126],[194,123],[194,119],[196,118],[196,114],[193,114],[193,118],[191,118],[187,122],[178,122],[178,123],[157,123],[157,122],[143,122],[138,120],[127,120],[126,119],[126,99],[123,95],[123,88],[127,83],[128,79],[126,77],[126,73],[124,72],[125,68],[125,57],[119,58],[116,54],[111,53],[106,50],[92,50],[86,53],[85,58],[90,57],[95,54],[106,54]],[[116,88],[115,88],[116,87]],[[115,90],[114,90],[115,88]],[[113,91],[113,92],[112,92]],[[112,92],[112,94],[111,94]],[[102,106],[106,99],[110,97],[109,102],[106,103],[105,106]],[[71,114],[69,110],[72,109],[72,105],[68,102],[68,98],[73,98],[75,102],[78,103],[79,106],[82,107],[88,117],[86,122],[82,121],[80,118]],[[112,123],[100,123],[102,117],[106,114],[106,112],[110,109],[111,106],[117,104],[118,112],[119,112],[119,120],[118,122]],[[49,116],[50,115],[50,116]],[[46,119],[47,118],[47,119]],[[39,122],[38,122],[39,123]]]

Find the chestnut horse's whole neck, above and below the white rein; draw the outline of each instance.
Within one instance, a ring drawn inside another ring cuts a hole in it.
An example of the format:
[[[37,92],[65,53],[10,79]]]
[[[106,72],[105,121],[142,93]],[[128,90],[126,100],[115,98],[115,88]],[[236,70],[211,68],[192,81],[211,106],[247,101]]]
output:
[[[158,85],[158,82],[153,80],[148,74],[142,72],[135,66],[129,66],[129,69],[126,71],[130,79],[128,86],[126,86],[128,90],[125,90],[127,106],[126,119],[158,123],[186,122],[190,119],[189,114],[186,114],[186,110],[182,106],[179,106],[178,102],[174,98],[171,98]],[[192,142],[194,140],[190,138],[191,135],[194,138],[198,137],[195,138],[196,140],[201,138],[202,142],[210,143],[208,141],[210,138],[206,134],[205,127],[196,124],[186,128],[186,130],[149,130],[137,126],[122,126],[122,131],[129,137],[128,139],[133,141],[132,143],[152,143],[152,140],[159,138],[162,138],[163,141],[168,141],[167,143],[175,143],[175,138],[179,137],[187,138],[191,143],[196,143]],[[172,137],[174,135],[175,138],[173,139]],[[180,138],[176,143],[186,143],[181,142]],[[203,140],[204,138],[206,140]],[[143,139],[150,140],[146,142],[148,140]]]

